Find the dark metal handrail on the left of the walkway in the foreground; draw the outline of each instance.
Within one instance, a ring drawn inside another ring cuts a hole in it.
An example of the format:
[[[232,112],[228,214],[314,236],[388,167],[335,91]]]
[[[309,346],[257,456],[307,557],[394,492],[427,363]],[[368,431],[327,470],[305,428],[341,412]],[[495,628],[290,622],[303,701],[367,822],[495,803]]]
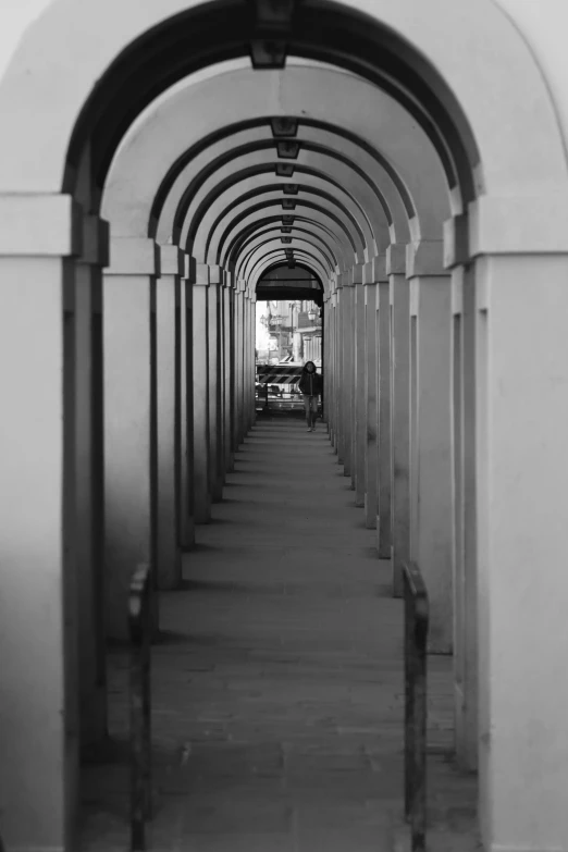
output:
[[[151,568],[139,565],[128,594],[131,637],[131,850],[146,849],[151,802],[150,643],[152,631]]]

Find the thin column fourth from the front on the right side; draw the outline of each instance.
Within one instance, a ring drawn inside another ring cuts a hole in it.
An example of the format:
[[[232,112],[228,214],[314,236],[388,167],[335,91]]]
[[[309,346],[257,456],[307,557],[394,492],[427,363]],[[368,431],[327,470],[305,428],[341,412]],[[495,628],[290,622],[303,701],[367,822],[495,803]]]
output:
[[[376,399],[378,468],[376,550],[380,559],[392,558],[392,476],[391,476],[391,285],[386,255],[374,259],[376,285]]]

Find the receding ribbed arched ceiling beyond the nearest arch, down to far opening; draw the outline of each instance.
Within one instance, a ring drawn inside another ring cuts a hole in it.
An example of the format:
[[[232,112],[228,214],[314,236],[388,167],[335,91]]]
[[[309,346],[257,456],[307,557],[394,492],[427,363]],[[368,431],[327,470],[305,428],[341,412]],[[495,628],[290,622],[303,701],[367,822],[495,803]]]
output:
[[[338,106],[325,116],[330,87]],[[227,122],[237,90],[245,114]],[[342,120],[347,98],[365,102],[356,126]],[[280,112],[259,114],[262,101]],[[450,193],[431,141],[398,104],[351,74],[304,65],[188,81],[155,104],[121,146],[103,212],[119,236],[173,243],[249,288],[267,262],[301,258],[329,291],[393,243],[440,242]]]

